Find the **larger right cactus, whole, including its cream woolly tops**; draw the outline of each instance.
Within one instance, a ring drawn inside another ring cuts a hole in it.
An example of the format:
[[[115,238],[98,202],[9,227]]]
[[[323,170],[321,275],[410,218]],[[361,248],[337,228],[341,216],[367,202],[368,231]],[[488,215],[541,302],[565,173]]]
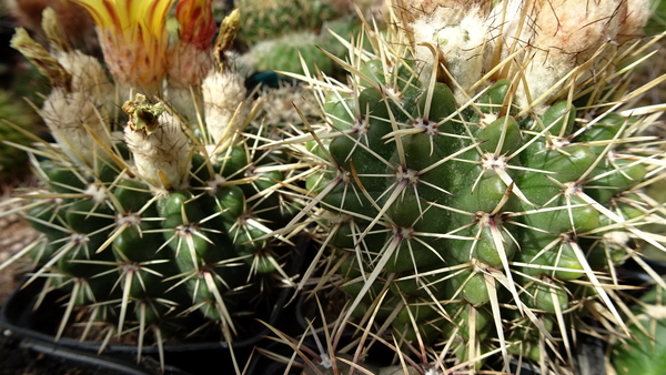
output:
[[[326,120],[283,142],[313,165],[295,220],[311,213],[330,250],[317,287],[346,292],[343,324],[420,373],[512,358],[569,373],[586,317],[628,334],[615,265],[666,251],[644,192],[666,176],[663,143],[642,135],[665,107],[629,105],[664,80],[628,89],[648,3],[391,9],[393,29],[365,30],[372,50],[331,55],[347,82],[299,77]]]

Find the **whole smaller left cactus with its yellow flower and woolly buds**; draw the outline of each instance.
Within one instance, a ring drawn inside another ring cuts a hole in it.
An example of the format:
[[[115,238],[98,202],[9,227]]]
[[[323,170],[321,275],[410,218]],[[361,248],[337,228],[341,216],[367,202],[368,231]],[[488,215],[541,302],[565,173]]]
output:
[[[261,101],[245,99],[233,70],[239,13],[212,44],[211,1],[179,1],[180,39],[168,44],[174,1],[77,2],[98,23],[113,83],[63,42],[50,10],[51,52],[22,29],[12,40],[53,87],[40,114],[56,143],[36,138],[29,153],[43,186],[21,195],[41,232],[18,255],[38,265],[28,283],[44,277],[44,293],[65,293],[57,337],[71,323],[82,339],[101,331],[102,347],[129,334],[139,356],[145,335],[159,346],[200,332],[243,338],[251,328],[238,320],[261,317],[276,285],[293,283],[292,242],[266,234],[291,220],[297,199],[283,194],[290,156],[261,149],[279,124],[262,124]]]

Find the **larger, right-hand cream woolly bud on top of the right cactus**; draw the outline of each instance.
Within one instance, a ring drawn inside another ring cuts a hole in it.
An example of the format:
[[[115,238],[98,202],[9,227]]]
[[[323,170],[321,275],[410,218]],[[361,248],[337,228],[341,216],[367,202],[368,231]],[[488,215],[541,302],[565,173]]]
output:
[[[644,0],[633,2],[638,1]],[[516,104],[543,113],[547,100],[564,87],[566,80],[589,75],[592,67],[585,63],[595,53],[608,45],[617,45],[623,20],[629,24],[628,30],[634,21],[642,19],[637,13],[630,18],[630,13],[627,2],[620,0],[599,0],[595,7],[571,0],[498,3],[488,18],[490,32],[491,38],[502,39],[502,60],[513,54],[508,74],[515,75],[523,70],[524,80],[515,93]],[[639,30],[630,29],[630,32]],[[603,54],[596,55],[596,64],[604,63]],[[585,70],[578,71],[578,67],[585,67]]]

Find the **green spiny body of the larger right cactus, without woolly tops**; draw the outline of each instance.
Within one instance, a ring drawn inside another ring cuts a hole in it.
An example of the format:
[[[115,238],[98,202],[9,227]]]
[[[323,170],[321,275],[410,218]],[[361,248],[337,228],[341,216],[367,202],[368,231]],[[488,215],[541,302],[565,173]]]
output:
[[[644,119],[577,109],[585,89],[575,83],[567,85],[574,95],[525,108],[512,75],[480,81],[480,94],[462,100],[446,77],[456,79],[457,68],[442,62],[450,57],[440,57],[438,69],[414,63],[414,49],[425,48],[408,47],[410,37],[418,32],[374,34],[373,51],[359,48],[341,63],[353,84],[333,91],[322,80],[317,88],[325,125],[315,129],[322,142],[306,148],[331,160],[314,162],[306,188],[324,215],[345,217],[320,221],[323,233],[335,230],[333,259],[346,256],[334,268],[350,296],[345,317],[376,313],[405,353],[440,339],[462,363],[492,349],[541,361],[539,347],[568,330],[589,291],[622,326],[601,280],[626,259],[629,237],[655,242],[633,226],[645,211],[617,209],[628,200],[658,210],[636,191],[649,171],[663,175],[648,160],[656,149],[638,139],[625,146]],[[437,61],[437,47],[430,49]],[[663,214],[653,219],[664,227]],[[405,305],[385,317],[395,301]]]

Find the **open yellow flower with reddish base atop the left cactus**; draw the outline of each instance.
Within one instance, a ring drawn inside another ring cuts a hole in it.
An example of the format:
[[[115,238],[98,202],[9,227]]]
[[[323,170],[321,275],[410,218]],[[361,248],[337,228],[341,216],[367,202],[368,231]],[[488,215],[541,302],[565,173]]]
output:
[[[104,60],[124,89],[159,91],[167,74],[167,12],[174,0],[72,0],[98,26]]]

